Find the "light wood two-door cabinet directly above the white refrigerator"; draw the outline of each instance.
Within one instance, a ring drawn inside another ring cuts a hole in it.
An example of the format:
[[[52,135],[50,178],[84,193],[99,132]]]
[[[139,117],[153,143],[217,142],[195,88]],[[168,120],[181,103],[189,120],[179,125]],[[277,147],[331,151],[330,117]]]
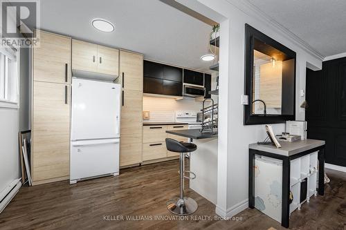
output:
[[[72,68],[118,76],[119,50],[73,39]]]

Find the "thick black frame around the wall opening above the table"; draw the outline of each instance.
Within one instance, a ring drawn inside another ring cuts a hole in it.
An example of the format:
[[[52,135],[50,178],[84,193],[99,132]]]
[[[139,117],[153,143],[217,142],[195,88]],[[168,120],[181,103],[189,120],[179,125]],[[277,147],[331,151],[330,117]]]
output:
[[[253,102],[253,46],[254,39],[259,39],[265,44],[280,50],[290,57],[294,57],[294,90],[293,90],[293,115],[252,115],[251,106]],[[296,53],[286,46],[275,41],[271,37],[256,30],[252,26],[245,24],[245,82],[244,92],[248,95],[248,104],[244,105],[244,125],[251,124],[277,124],[285,123],[288,120],[295,120],[295,76],[296,76]]]

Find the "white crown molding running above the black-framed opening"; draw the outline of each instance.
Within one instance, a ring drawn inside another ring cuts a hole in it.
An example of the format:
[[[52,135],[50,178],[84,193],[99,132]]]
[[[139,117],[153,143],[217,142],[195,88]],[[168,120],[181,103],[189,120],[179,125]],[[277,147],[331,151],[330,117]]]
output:
[[[309,55],[312,55],[313,57],[316,57],[316,59],[320,59],[321,61],[325,58],[320,52],[312,48],[306,41],[300,39],[297,35],[295,35],[293,32],[282,26],[280,23],[275,21],[272,17],[268,16],[265,12],[260,10],[260,8],[257,8],[257,6],[253,5],[253,3],[246,1],[246,0],[226,0],[231,5],[235,6],[238,10],[241,10],[246,15],[250,17],[254,17],[255,19],[258,19],[270,26],[272,26],[276,32],[278,32],[280,35],[287,37],[290,41],[293,42],[293,44],[297,45],[298,47],[302,48],[302,50],[309,53]]]

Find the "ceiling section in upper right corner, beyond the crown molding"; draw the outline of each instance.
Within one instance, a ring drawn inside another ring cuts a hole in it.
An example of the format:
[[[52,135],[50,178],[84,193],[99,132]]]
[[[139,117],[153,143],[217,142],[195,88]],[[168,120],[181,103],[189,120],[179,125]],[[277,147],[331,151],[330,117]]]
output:
[[[346,52],[345,0],[247,0],[322,56]]]

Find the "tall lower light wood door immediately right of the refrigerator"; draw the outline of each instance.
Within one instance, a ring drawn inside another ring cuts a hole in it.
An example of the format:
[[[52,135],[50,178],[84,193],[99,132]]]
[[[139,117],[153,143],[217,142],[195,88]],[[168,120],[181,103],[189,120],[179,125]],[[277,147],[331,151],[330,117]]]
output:
[[[120,124],[120,166],[142,162],[142,106],[143,93],[122,91]]]

